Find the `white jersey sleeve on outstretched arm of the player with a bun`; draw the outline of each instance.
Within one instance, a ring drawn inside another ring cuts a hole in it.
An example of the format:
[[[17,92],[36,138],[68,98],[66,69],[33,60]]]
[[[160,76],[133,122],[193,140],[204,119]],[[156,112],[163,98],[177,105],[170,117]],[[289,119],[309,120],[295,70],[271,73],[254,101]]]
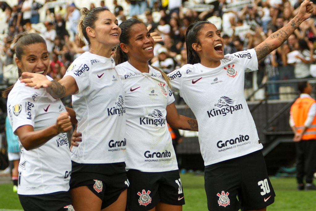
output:
[[[80,57],[78,57],[80,58]],[[65,76],[72,76],[77,83],[79,91],[76,94],[81,93],[89,85],[89,71],[91,71],[91,66],[88,61],[78,60],[78,58],[69,66]]]

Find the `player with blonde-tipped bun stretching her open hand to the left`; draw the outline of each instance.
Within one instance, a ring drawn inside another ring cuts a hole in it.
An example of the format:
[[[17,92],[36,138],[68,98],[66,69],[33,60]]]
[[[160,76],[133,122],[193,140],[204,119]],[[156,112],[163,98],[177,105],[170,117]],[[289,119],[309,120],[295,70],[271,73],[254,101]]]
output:
[[[125,171],[125,96],[111,57],[119,44],[118,20],[106,8],[81,9],[79,38],[90,50],[59,81],[39,74],[21,82],[46,87],[54,98],[72,94],[82,144],[71,150],[71,199],[76,211],[124,211],[129,185]]]

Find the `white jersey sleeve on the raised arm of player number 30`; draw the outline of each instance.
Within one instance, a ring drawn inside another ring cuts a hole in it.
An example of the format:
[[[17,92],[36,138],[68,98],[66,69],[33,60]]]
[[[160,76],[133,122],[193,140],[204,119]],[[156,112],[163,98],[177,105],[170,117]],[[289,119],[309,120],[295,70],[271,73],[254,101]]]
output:
[[[254,49],[239,51],[232,55],[238,58],[239,63],[244,66],[245,72],[258,70],[257,53]]]

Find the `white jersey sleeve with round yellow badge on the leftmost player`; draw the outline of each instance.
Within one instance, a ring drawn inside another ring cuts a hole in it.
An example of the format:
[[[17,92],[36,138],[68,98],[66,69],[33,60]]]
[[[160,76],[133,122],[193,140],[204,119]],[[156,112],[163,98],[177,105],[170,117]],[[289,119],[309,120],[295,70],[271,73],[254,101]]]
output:
[[[33,99],[15,99],[11,102],[8,99],[8,114],[11,118],[13,132],[15,133],[16,129],[23,125],[31,125],[34,127],[36,105],[34,104]]]

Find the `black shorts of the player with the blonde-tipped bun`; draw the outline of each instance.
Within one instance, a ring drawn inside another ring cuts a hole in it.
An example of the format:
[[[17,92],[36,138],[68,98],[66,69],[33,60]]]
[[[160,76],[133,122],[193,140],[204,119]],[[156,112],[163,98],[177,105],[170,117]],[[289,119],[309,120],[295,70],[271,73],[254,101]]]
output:
[[[125,162],[109,164],[71,162],[70,189],[87,186],[102,200],[101,209],[114,203],[129,185]]]

